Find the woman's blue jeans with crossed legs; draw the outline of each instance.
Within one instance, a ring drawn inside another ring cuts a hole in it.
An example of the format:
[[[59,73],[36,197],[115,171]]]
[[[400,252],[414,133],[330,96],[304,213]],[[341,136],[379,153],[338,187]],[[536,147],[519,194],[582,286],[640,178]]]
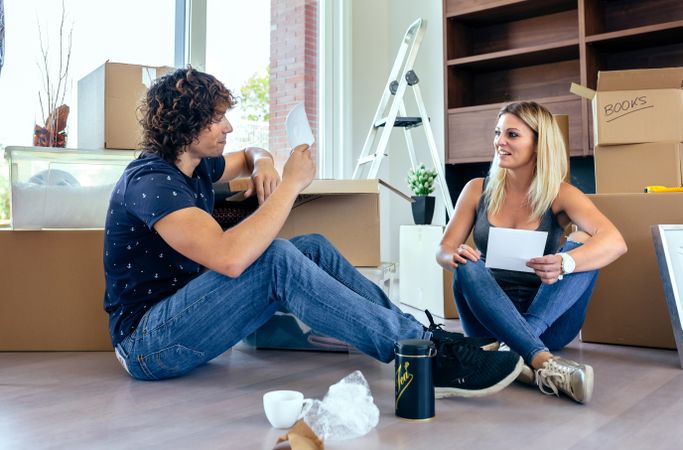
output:
[[[567,241],[560,251],[579,245]],[[453,293],[465,334],[495,337],[529,364],[536,353],[559,350],[578,335],[597,276],[597,270],[565,275],[557,283],[542,284],[525,304],[503,291],[480,259],[458,266]]]

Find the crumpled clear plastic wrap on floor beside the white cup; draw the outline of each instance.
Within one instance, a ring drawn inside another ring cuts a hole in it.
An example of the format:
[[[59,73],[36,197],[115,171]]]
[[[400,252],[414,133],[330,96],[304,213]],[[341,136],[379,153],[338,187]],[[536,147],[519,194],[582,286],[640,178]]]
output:
[[[375,428],[379,408],[365,377],[356,370],[330,386],[322,401],[312,400],[303,419],[323,440],[342,441]]]

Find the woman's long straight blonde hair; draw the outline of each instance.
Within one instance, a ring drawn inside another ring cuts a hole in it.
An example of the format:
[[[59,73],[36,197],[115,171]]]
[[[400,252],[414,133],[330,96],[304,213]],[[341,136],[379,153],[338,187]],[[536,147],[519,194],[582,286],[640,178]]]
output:
[[[503,114],[515,115],[534,132],[536,168],[527,202],[531,207],[531,219],[538,220],[550,208],[567,175],[567,154],[562,133],[550,111],[536,102],[510,103],[500,110],[498,118]],[[496,154],[484,189],[488,210],[493,214],[498,213],[503,206],[506,176],[507,170],[500,168]]]

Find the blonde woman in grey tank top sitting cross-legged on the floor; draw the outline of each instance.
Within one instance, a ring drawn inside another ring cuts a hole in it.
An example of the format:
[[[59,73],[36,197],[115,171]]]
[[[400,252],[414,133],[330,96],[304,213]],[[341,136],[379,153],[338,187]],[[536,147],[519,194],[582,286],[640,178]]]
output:
[[[626,244],[586,195],[563,182],[566,149],[546,108],[534,102],[505,106],[493,145],[489,175],[463,189],[437,261],[454,271],[455,302],[467,335],[495,337],[522,355],[530,367],[519,381],[588,402],[592,367],[551,351],[577,336],[598,269],[624,254]],[[581,231],[560,246],[570,223]],[[545,256],[526,264],[533,273],[485,267],[491,227],[548,232]],[[476,248],[465,243],[472,230]]]

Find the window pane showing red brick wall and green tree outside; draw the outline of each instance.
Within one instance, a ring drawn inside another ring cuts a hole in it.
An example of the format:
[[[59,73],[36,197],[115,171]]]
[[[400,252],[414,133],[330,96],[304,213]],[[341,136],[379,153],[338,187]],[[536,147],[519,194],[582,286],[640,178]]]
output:
[[[281,168],[290,151],[284,121],[299,102],[317,134],[318,8],[319,0],[207,1],[206,71],[242,97],[229,114],[228,150],[264,146]],[[253,101],[264,86],[267,102]]]

